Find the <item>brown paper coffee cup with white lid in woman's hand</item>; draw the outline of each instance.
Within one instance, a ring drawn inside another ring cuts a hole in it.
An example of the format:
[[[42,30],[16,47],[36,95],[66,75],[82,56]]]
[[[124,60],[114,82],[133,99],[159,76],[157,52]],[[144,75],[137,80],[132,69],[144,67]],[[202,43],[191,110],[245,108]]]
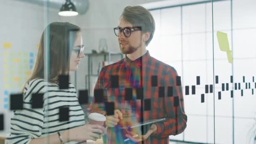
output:
[[[91,113],[88,116],[88,118],[89,118],[89,124],[92,124],[92,125],[103,126],[106,121],[106,117],[104,115],[101,115],[100,113],[96,113],[96,112]]]

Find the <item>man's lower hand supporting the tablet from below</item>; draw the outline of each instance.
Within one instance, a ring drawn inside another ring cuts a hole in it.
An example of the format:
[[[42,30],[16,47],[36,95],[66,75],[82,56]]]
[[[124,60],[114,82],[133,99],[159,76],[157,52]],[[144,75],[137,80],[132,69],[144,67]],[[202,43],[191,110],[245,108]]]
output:
[[[147,131],[145,135],[133,137],[133,136],[136,136],[137,134],[131,132],[132,136],[128,134],[126,134],[125,136],[134,142],[140,142],[140,141],[145,141],[150,135],[155,134],[156,132],[157,132],[157,125],[152,124],[149,131]]]

